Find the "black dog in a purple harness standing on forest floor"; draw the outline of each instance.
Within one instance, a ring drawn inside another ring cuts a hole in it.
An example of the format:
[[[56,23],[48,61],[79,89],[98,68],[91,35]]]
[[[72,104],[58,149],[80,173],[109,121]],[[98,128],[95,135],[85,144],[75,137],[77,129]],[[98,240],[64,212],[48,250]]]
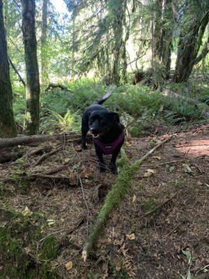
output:
[[[87,149],[86,134],[89,130],[93,135],[100,172],[106,169],[102,155],[111,154],[109,169],[116,173],[116,158],[124,142],[124,126],[120,123],[116,112],[109,112],[101,105],[110,95],[111,93],[105,94],[102,99],[85,110],[82,118],[82,149]]]

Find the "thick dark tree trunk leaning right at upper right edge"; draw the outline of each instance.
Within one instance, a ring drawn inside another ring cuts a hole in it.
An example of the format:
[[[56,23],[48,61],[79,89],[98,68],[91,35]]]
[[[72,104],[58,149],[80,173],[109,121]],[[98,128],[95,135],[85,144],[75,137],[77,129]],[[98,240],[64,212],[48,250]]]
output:
[[[176,83],[185,82],[189,79],[192,69],[196,63],[199,48],[202,43],[204,31],[209,20],[209,10],[201,18],[192,20],[189,25],[189,33],[180,32],[176,69],[173,81]]]

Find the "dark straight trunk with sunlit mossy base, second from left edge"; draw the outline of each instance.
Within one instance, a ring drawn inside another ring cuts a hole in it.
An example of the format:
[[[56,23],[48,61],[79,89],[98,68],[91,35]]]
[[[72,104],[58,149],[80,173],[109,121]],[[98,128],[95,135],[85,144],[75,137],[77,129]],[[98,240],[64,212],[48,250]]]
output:
[[[38,73],[35,0],[21,0],[22,33],[26,63],[26,116],[24,130],[28,135],[38,133],[40,83]]]

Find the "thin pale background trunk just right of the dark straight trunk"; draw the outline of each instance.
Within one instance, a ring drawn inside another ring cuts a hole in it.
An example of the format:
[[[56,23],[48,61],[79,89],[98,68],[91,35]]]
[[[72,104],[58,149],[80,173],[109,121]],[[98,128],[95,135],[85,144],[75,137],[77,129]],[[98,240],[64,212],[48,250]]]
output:
[[[48,82],[49,75],[47,71],[47,8],[49,0],[42,1],[42,29],[41,29],[41,83]]]

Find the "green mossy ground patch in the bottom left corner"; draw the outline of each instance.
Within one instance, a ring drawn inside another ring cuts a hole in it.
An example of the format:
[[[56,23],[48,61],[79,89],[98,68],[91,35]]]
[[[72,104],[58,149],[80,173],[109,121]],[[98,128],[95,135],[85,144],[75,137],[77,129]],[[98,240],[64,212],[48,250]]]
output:
[[[23,216],[7,206],[0,209],[0,278],[59,278],[52,267],[59,243],[54,235],[42,239],[42,213]]]

